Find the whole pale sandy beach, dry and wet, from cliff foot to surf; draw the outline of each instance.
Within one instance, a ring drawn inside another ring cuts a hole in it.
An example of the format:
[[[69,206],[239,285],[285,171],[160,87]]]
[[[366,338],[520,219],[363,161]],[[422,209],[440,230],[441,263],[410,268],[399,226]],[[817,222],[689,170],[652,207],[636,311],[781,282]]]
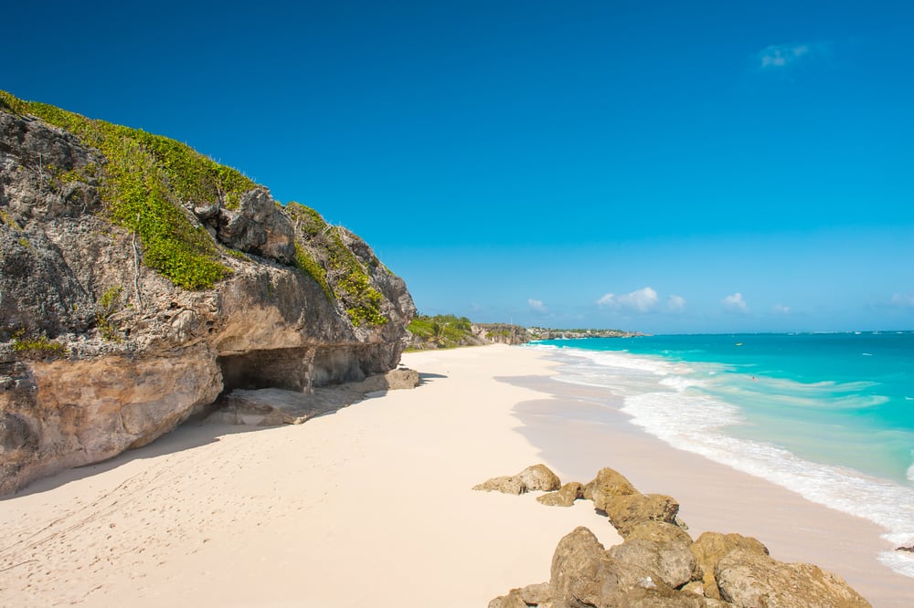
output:
[[[0,605],[484,606],[547,581],[590,503],[547,508],[474,484],[544,462],[563,481],[613,466],[683,504],[693,533],[757,536],[837,571],[875,605],[914,580],[881,566],[877,529],[643,435],[547,379],[540,351],[409,353],[414,391],[304,425],[185,425],[151,446],[0,501]]]

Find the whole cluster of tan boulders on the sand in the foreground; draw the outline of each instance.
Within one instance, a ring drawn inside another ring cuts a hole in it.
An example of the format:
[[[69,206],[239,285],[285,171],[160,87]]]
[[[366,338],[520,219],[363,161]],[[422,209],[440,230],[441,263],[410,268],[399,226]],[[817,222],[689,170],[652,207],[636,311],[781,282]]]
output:
[[[473,489],[521,494],[526,480],[548,480],[545,505],[569,507],[593,501],[622,536],[607,550],[590,529],[579,527],[558,542],[549,582],[512,589],[489,608],[593,606],[780,606],[856,608],[870,604],[841,577],[813,564],[771,558],[759,540],[704,532],[697,540],[677,518],[674,498],[642,494],[611,468],[587,484],[562,486],[544,465],[516,476],[494,477]],[[535,486],[540,484],[535,483]]]

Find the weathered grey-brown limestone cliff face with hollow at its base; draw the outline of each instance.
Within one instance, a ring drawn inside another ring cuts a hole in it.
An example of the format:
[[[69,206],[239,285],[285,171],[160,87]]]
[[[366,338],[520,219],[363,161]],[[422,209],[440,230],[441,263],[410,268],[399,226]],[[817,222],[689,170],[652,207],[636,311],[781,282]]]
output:
[[[307,393],[396,367],[415,307],[357,236],[260,187],[236,204],[171,196],[222,268],[211,286],[177,287],[153,269],[155,244],[112,220],[115,161],[7,110],[0,494],[143,446],[229,389]]]

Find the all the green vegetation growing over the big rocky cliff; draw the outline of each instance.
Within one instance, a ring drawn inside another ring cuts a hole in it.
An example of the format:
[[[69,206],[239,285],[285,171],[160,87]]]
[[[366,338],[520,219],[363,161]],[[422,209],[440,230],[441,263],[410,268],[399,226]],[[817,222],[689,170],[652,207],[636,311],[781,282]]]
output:
[[[19,100],[2,90],[0,111],[36,117],[100,151],[103,161],[73,170],[39,157],[38,170],[54,187],[74,182],[98,185],[107,217],[136,235],[143,245],[143,263],[175,285],[210,288],[231,274],[224,256],[248,259],[219,245],[188,213],[188,208],[212,205],[237,209],[241,196],[258,187],[242,173],[167,137]],[[386,323],[383,296],[371,279],[381,267],[377,257],[357,257],[353,243],[360,241],[344,228],[328,225],[314,209],[291,203],[285,210],[297,228],[293,265],[314,278],[329,301],[340,302],[356,326]],[[0,220],[5,221],[3,215]],[[107,327],[111,304],[101,302],[102,329]]]

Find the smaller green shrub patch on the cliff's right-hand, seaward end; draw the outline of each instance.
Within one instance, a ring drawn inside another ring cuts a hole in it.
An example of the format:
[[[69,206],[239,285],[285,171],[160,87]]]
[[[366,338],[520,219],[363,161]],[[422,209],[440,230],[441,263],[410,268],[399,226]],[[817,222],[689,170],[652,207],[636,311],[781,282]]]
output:
[[[303,204],[290,202],[286,211],[303,237],[302,243],[295,243],[296,266],[314,277],[328,298],[332,294],[342,302],[356,326],[385,324],[388,319],[381,314],[383,297],[371,285],[367,269],[345,246],[340,228],[327,224],[319,213]],[[376,257],[369,264],[380,262]]]

